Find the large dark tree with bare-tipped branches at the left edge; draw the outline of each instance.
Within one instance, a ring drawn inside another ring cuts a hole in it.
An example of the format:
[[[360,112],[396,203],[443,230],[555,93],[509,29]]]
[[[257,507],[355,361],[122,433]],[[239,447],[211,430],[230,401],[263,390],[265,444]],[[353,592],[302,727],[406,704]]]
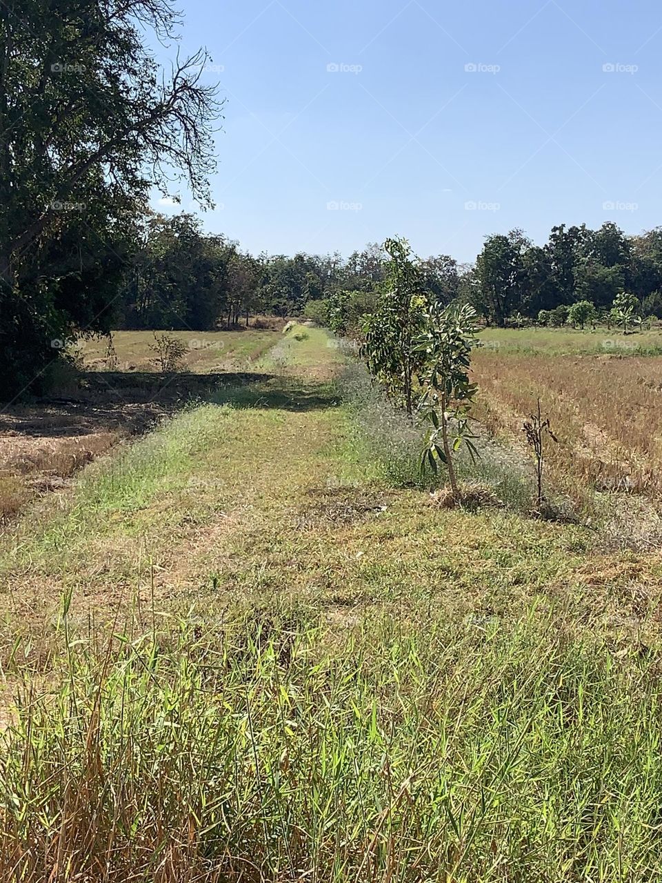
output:
[[[9,392],[53,358],[49,342],[106,331],[132,228],[173,175],[210,204],[214,87],[203,52],[166,77],[169,0],[0,4],[0,375]],[[18,389],[17,389],[18,388]]]

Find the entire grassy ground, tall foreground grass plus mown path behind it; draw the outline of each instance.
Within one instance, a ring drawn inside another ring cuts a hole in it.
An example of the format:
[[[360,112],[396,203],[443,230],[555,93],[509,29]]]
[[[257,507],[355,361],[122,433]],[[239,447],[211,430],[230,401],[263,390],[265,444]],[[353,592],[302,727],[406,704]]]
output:
[[[0,879],[658,879],[660,555],[394,483],[343,363],[279,338],[5,533]]]

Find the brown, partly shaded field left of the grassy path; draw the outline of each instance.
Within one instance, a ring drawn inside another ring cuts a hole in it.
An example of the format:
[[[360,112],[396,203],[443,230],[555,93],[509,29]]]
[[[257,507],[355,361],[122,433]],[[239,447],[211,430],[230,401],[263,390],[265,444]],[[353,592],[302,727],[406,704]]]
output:
[[[281,338],[283,321],[237,331],[168,332],[186,343],[177,374],[154,364],[151,331],[117,331],[77,347],[83,370],[65,373],[51,396],[0,415],[0,527],[44,490],[62,489],[82,466],[155,426],[190,398],[248,379]],[[163,332],[156,332],[162,334]]]

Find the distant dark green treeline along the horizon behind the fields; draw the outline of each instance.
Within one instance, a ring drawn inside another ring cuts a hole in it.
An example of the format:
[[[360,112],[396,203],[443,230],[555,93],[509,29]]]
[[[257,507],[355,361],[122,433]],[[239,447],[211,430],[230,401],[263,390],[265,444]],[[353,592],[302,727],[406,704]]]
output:
[[[151,216],[141,236],[117,328],[229,328],[265,313],[305,314],[344,332],[372,312],[387,275],[387,253],[378,244],[347,259],[338,253],[253,256],[237,242],[203,232],[186,214]],[[613,305],[624,292],[631,306],[636,300],[631,312],[662,315],[658,229],[628,237],[614,223],[598,230],[561,225],[542,246],[513,230],[487,237],[473,264],[441,254],[417,265],[434,301],[470,304],[498,326],[526,319],[560,325],[568,317],[583,325],[601,313],[619,321]]]

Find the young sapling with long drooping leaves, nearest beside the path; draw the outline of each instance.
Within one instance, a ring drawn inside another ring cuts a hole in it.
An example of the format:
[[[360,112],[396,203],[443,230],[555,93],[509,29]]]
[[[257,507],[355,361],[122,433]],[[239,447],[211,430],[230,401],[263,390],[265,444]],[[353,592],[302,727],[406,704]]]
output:
[[[470,353],[477,343],[476,319],[476,312],[468,305],[442,311],[433,308],[418,341],[418,350],[425,359],[420,407],[433,425],[425,441],[421,467],[429,465],[437,472],[439,462],[446,464],[455,500],[458,487],[453,455],[463,443],[472,456],[476,454],[472,442],[475,436],[469,429],[469,408],[477,391],[476,384],[469,379]],[[452,445],[451,420],[455,426]]]

